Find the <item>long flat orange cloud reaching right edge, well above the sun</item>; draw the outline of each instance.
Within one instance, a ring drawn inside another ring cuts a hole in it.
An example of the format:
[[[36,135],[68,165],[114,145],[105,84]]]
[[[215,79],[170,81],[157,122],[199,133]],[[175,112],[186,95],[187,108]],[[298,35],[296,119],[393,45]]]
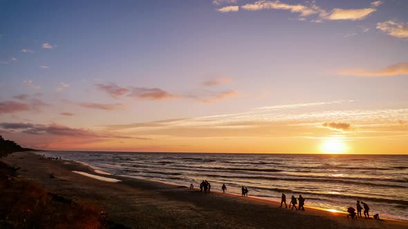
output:
[[[365,69],[342,70],[339,74],[357,77],[388,77],[395,75],[408,75],[408,62],[396,63],[384,70],[367,71]]]

